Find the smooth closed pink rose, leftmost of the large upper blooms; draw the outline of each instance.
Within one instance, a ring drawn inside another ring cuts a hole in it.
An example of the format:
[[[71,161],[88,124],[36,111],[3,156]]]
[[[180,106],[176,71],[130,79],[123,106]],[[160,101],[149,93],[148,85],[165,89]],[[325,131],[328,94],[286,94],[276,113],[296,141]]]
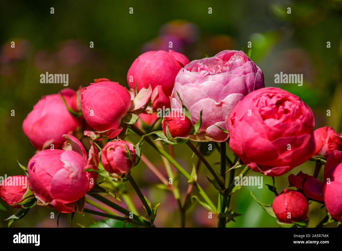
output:
[[[61,93],[70,106],[75,91],[63,89]],[[23,122],[23,131],[37,150],[50,148],[51,144],[62,149],[65,141],[62,135],[72,133],[78,125],[79,120],[68,112],[58,93],[44,96],[35,104]]]

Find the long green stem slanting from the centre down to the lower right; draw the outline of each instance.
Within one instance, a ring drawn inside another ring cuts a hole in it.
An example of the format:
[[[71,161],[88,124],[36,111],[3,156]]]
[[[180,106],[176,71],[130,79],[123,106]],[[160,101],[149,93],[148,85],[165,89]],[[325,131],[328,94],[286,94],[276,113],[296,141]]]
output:
[[[130,125],[131,129],[140,137],[144,136],[143,131],[141,131],[139,128],[137,128],[134,125]],[[148,136],[144,137],[144,139],[147,141],[147,143],[149,143],[158,153],[160,153],[161,155],[163,155],[165,158],[168,159],[168,161],[174,165],[174,167],[187,179],[189,180],[190,174],[185,171],[185,169],[179,165],[167,152],[165,152],[164,149],[158,147],[154,141],[152,141]],[[195,183],[196,188],[198,189],[199,194],[203,197],[203,199],[206,201],[206,203],[211,207],[213,213],[216,213],[217,209],[215,207],[215,205],[212,203],[212,201],[210,200],[210,198],[208,197],[208,195],[203,191],[202,187],[196,182]]]

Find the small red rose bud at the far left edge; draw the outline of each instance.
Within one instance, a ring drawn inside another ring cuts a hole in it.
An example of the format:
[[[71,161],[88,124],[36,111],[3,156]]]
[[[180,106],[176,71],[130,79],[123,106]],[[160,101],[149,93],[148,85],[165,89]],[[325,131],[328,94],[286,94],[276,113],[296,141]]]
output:
[[[23,198],[30,186],[30,182],[25,175],[14,175],[3,180],[0,184],[0,197],[8,205],[17,204]],[[22,208],[22,205],[13,205],[15,208]]]

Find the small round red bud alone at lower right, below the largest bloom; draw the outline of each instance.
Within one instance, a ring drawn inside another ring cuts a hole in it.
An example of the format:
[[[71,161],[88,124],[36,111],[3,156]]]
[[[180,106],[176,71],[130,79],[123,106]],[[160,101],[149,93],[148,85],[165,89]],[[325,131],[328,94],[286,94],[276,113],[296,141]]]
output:
[[[274,199],[272,209],[281,222],[299,222],[307,217],[309,204],[302,193],[285,189]]]

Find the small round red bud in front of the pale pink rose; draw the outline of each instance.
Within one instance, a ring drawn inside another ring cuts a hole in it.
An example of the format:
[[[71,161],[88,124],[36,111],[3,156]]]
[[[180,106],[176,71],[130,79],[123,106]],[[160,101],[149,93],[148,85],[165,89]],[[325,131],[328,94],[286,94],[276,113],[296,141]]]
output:
[[[169,113],[163,119],[161,124],[163,128],[163,133],[167,136],[166,128],[169,128],[170,135],[172,138],[189,136],[192,130],[191,120],[184,114],[179,115],[177,113]]]

